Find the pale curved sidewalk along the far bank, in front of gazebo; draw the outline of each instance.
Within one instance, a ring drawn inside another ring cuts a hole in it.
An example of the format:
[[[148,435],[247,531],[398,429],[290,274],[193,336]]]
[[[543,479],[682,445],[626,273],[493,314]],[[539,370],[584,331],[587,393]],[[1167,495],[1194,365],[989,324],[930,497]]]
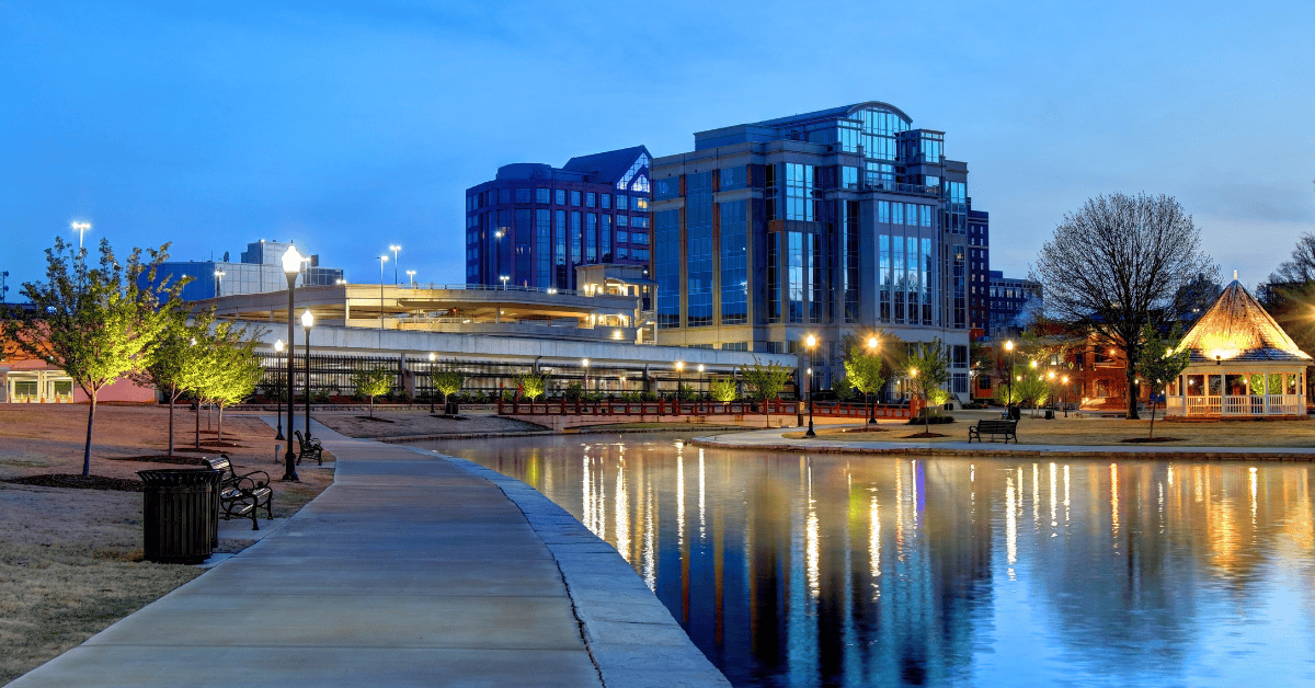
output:
[[[857,428],[857,426],[856,426]],[[1002,442],[863,442],[792,439],[786,433],[798,428],[755,430],[696,437],[696,446],[757,451],[813,451],[819,454],[878,454],[897,456],[1057,456],[1090,459],[1155,459],[1174,456],[1199,459],[1315,460],[1315,447],[1185,447],[1185,446],[1086,446],[1086,445],[1005,445]]]

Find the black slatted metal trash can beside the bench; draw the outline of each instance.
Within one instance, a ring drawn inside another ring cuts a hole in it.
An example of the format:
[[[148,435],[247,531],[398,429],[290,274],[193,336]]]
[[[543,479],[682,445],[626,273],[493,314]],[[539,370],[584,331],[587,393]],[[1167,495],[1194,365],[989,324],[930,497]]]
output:
[[[220,528],[220,472],[209,468],[137,471],[142,491],[146,560],[199,564],[210,556]]]

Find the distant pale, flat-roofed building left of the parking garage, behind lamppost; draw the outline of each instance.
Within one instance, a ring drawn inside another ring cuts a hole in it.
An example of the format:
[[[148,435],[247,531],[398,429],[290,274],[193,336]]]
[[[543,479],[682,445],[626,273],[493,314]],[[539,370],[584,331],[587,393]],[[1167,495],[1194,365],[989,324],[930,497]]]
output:
[[[192,282],[183,287],[184,301],[233,296],[238,293],[264,293],[285,291],[288,278],[283,274],[283,254],[292,242],[258,241],[242,251],[242,262],[234,263],[224,254],[224,260],[171,260],[160,264],[156,278],[172,275],[172,280],[183,276]],[[320,257],[305,258],[305,267],[297,276],[299,287],[337,284],[343,279],[342,270],[320,267]],[[171,282],[172,282],[171,280]]]

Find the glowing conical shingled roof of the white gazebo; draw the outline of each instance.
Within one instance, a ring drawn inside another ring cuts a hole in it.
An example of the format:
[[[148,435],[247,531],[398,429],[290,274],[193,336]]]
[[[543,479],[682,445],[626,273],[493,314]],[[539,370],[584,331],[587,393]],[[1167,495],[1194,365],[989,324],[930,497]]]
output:
[[[1187,330],[1180,349],[1195,363],[1215,360],[1311,360],[1274,318],[1233,280]]]

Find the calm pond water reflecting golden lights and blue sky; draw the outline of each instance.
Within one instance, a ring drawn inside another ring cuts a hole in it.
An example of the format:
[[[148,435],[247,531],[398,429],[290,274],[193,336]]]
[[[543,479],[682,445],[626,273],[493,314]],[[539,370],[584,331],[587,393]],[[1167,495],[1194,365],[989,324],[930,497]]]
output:
[[[430,446],[564,506],[748,685],[1315,685],[1304,463]]]

